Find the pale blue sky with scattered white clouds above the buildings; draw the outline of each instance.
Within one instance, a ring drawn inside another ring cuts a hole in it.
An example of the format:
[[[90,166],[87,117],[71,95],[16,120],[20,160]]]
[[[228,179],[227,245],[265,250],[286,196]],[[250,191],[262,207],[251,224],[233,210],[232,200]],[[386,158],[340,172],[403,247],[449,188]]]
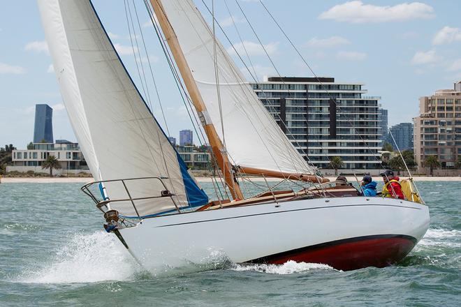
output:
[[[93,0],[93,3],[139,88],[142,86],[135,59],[140,59],[147,68],[148,56],[166,123],[154,95],[154,82],[147,80],[154,115],[164,130],[168,127],[170,135],[179,137],[180,130],[192,128],[189,116],[143,1],[128,1],[136,3],[147,53],[143,47],[139,50],[135,47],[133,52],[123,0]],[[258,78],[275,75],[275,68],[237,1],[279,73],[312,76],[258,0],[215,1],[217,21],[237,52],[242,52],[242,44],[247,47]],[[211,22],[204,3],[211,7],[212,0],[195,2]],[[390,125],[416,117],[420,96],[437,89],[450,89],[453,82],[461,80],[460,1],[263,0],[263,3],[316,75],[335,77],[339,82],[365,83],[368,96],[381,96],[383,108],[389,110]],[[134,22],[138,27],[138,22]],[[137,35],[140,39],[139,30]],[[222,33],[217,35],[226,48],[231,48]],[[47,103],[53,108],[54,139],[76,141],[52,69],[36,1],[2,1],[0,42],[0,147],[14,144],[23,149],[31,142],[36,103]],[[231,55],[244,71],[244,63],[235,52]]]

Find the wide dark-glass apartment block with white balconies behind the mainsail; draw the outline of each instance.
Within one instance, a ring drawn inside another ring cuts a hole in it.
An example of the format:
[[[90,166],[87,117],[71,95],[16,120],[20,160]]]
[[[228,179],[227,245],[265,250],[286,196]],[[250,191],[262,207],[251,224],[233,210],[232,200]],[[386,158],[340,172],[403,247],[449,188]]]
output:
[[[317,167],[339,156],[348,169],[379,169],[379,97],[332,77],[269,77],[252,84],[298,151]]]

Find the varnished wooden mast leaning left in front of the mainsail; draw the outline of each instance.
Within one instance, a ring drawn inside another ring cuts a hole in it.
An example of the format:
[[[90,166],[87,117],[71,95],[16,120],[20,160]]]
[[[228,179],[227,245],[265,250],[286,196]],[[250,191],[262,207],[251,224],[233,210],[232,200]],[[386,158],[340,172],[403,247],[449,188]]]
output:
[[[186,58],[184,57],[184,53],[181,50],[181,46],[177,40],[175,30],[168,21],[168,17],[166,16],[163,5],[161,4],[161,0],[150,0],[150,3],[152,4],[152,8],[154,8],[154,13],[157,17],[157,20],[159,20],[163,35],[165,35],[168,46],[170,46],[170,50],[173,54],[173,57],[175,58],[177,68],[180,70],[182,79],[186,85],[186,89],[191,96],[193,106],[197,110],[198,117],[200,118],[203,129],[205,130],[208,140],[210,141],[210,146],[212,147],[214,156],[217,159],[218,167],[223,173],[226,185],[231,191],[231,195],[234,200],[243,200],[242,191],[240,190],[240,186],[238,185],[237,180],[234,178],[226,149],[219,139],[216,128],[214,128],[210,116],[208,115],[205,103],[203,103],[203,98],[200,95],[200,91],[198,91],[195,80],[193,80],[191,69],[189,68],[189,64],[187,63]]]

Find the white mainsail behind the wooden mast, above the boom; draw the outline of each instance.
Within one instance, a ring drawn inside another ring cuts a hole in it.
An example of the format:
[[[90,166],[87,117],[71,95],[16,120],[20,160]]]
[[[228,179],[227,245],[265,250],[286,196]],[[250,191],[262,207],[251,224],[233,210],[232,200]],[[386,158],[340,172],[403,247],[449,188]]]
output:
[[[312,173],[217,41],[224,137],[214,68],[214,36],[191,0],[164,0],[163,8],[191,68],[210,119],[235,165],[289,173]]]

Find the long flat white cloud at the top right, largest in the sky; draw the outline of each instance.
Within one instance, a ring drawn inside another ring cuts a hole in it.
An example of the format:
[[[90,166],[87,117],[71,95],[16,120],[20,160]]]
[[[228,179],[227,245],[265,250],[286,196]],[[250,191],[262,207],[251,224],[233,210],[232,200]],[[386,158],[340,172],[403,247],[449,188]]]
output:
[[[401,3],[395,6],[374,6],[362,1],[348,1],[333,6],[319,15],[321,20],[361,24],[365,22],[402,22],[434,17],[434,8],[425,3]]]

